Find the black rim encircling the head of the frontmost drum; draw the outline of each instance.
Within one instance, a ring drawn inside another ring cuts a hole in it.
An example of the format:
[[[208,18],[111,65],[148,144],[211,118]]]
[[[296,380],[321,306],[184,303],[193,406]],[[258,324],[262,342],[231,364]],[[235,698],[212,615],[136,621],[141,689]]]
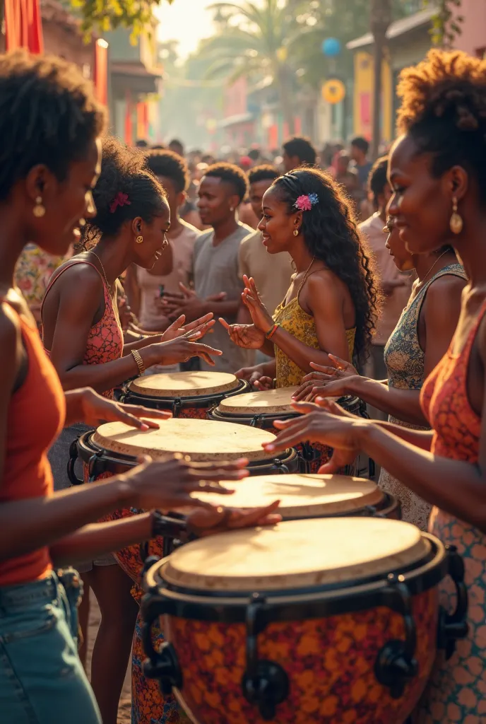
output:
[[[262,602],[268,623],[275,620],[325,618],[380,605],[396,610],[393,602],[396,593],[394,584],[397,581],[404,584],[410,594],[415,595],[437,586],[448,573],[445,545],[432,534],[422,532],[422,537],[430,542],[430,550],[422,559],[403,566],[399,571],[391,570],[388,576],[377,574],[359,579],[355,583],[346,581],[341,584],[320,584],[282,591],[203,591],[169,584],[161,576],[156,577],[157,571],[169,560],[163,558],[145,573],[143,588],[147,594],[147,605],[153,607],[154,602],[160,605],[160,615],[219,623],[244,623],[248,605],[252,600]]]

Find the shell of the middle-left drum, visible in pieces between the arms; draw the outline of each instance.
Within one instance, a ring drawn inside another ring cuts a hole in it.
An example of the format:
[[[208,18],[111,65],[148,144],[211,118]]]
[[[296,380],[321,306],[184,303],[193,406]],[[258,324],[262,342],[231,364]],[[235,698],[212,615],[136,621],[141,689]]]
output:
[[[116,452],[103,450],[95,445],[93,440],[93,432],[85,432],[80,435],[77,441],[77,455],[82,460],[84,482],[94,482],[109,478],[119,473],[126,473],[130,468],[135,467],[136,458],[129,455],[119,455]],[[270,473],[298,473],[303,472],[302,458],[296,450],[286,450],[286,452],[276,455],[273,459],[255,460],[249,463],[248,470],[250,475],[268,475]],[[116,521],[121,518],[129,518],[132,515],[141,513],[141,510],[133,508],[124,508],[116,510],[103,518],[103,521]],[[150,541],[150,555],[163,557],[169,550],[173,541],[163,538],[157,538]],[[140,571],[142,571],[142,558],[140,556],[140,546],[134,545],[115,552],[116,560],[125,573],[127,573],[133,581],[140,584]],[[140,597],[140,595],[139,595]]]

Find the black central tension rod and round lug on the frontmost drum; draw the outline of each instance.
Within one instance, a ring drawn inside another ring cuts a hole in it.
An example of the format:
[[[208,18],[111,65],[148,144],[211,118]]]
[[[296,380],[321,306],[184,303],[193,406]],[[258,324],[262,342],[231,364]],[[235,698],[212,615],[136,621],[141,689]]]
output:
[[[245,699],[258,707],[265,721],[276,716],[277,704],[289,696],[289,678],[285,670],[274,661],[258,659],[257,636],[265,631],[265,597],[254,593],[246,613],[247,668],[242,678]]]

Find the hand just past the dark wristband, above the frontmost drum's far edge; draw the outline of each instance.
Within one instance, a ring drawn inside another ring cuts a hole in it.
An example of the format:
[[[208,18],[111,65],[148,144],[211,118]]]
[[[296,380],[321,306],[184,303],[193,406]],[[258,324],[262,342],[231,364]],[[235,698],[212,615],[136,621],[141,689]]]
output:
[[[187,518],[187,530],[200,538],[216,533],[234,531],[255,526],[273,526],[280,523],[282,517],[275,511],[280,500],[275,500],[265,508],[213,508],[195,510]]]

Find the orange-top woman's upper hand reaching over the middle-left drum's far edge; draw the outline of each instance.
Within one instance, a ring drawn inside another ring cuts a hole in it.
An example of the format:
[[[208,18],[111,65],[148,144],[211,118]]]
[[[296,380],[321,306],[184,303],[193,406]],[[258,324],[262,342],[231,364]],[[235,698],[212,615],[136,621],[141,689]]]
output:
[[[141,405],[123,405],[107,397],[98,395],[98,392],[88,387],[81,392],[82,422],[92,427],[98,427],[105,422],[124,422],[139,430],[148,430],[150,427],[158,428],[155,420],[167,420],[172,417],[170,412],[163,410],[149,410]],[[153,418],[153,419],[147,419]]]

